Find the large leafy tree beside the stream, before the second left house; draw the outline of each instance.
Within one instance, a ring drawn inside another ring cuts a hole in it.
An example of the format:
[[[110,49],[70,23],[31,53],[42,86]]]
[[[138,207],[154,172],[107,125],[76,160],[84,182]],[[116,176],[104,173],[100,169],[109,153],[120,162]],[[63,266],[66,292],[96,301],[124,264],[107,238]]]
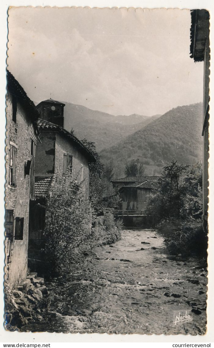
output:
[[[82,183],[72,179],[70,173],[56,178],[46,211],[43,252],[49,274],[67,272],[78,254],[94,243],[92,209]]]

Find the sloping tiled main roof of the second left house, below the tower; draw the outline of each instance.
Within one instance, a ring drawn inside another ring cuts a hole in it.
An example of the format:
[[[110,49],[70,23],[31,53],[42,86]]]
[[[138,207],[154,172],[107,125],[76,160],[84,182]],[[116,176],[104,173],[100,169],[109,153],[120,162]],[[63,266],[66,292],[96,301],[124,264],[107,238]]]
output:
[[[76,136],[68,132],[68,130],[64,129],[63,127],[55,125],[54,123],[48,122],[46,120],[42,120],[40,118],[37,120],[37,127],[40,131],[51,130],[63,134],[69,140],[75,143],[78,150],[82,152],[89,159],[90,162],[96,162],[96,159],[93,156],[93,154],[83,145],[83,143],[79,139],[77,139]]]

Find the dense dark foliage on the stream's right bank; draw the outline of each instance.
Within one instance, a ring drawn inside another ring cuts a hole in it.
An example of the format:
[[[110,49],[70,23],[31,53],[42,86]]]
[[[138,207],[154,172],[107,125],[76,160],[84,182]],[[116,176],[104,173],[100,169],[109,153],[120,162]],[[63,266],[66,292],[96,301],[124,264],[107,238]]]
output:
[[[163,168],[156,193],[148,200],[152,227],[165,238],[173,254],[205,256],[207,236],[202,229],[202,168],[171,161]]]

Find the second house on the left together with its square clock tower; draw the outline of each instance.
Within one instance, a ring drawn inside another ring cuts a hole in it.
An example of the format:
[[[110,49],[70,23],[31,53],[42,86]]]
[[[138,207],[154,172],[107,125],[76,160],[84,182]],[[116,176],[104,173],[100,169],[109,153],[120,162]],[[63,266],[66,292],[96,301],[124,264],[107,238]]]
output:
[[[37,105],[40,116],[37,127],[39,141],[35,158],[35,195],[30,206],[29,260],[38,257],[39,245],[44,239],[46,200],[51,195],[56,177],[63,177],[67,171],[72,178],[83,182],[83,192],[89,197],[89,163],[95,162],[92,153],[73,134],[63,128],[63,103],[47,100]],[[56,111],[57,110],[57,111]],[[54,120],[53,124],[50,120]],[[39,260],[37,260],[39,262]]]

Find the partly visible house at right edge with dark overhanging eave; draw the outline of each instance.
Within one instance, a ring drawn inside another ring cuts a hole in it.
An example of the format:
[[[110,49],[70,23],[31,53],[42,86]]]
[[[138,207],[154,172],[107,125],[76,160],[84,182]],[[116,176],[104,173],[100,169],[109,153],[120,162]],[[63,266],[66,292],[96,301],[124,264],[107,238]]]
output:
[[[209,12],[205,9],[191,11],[190,57],[194,62],[204,62],[204,97],[201,133],[203,136],[203,229],[207,232],[208,219],[208,159],[209,159]]]

